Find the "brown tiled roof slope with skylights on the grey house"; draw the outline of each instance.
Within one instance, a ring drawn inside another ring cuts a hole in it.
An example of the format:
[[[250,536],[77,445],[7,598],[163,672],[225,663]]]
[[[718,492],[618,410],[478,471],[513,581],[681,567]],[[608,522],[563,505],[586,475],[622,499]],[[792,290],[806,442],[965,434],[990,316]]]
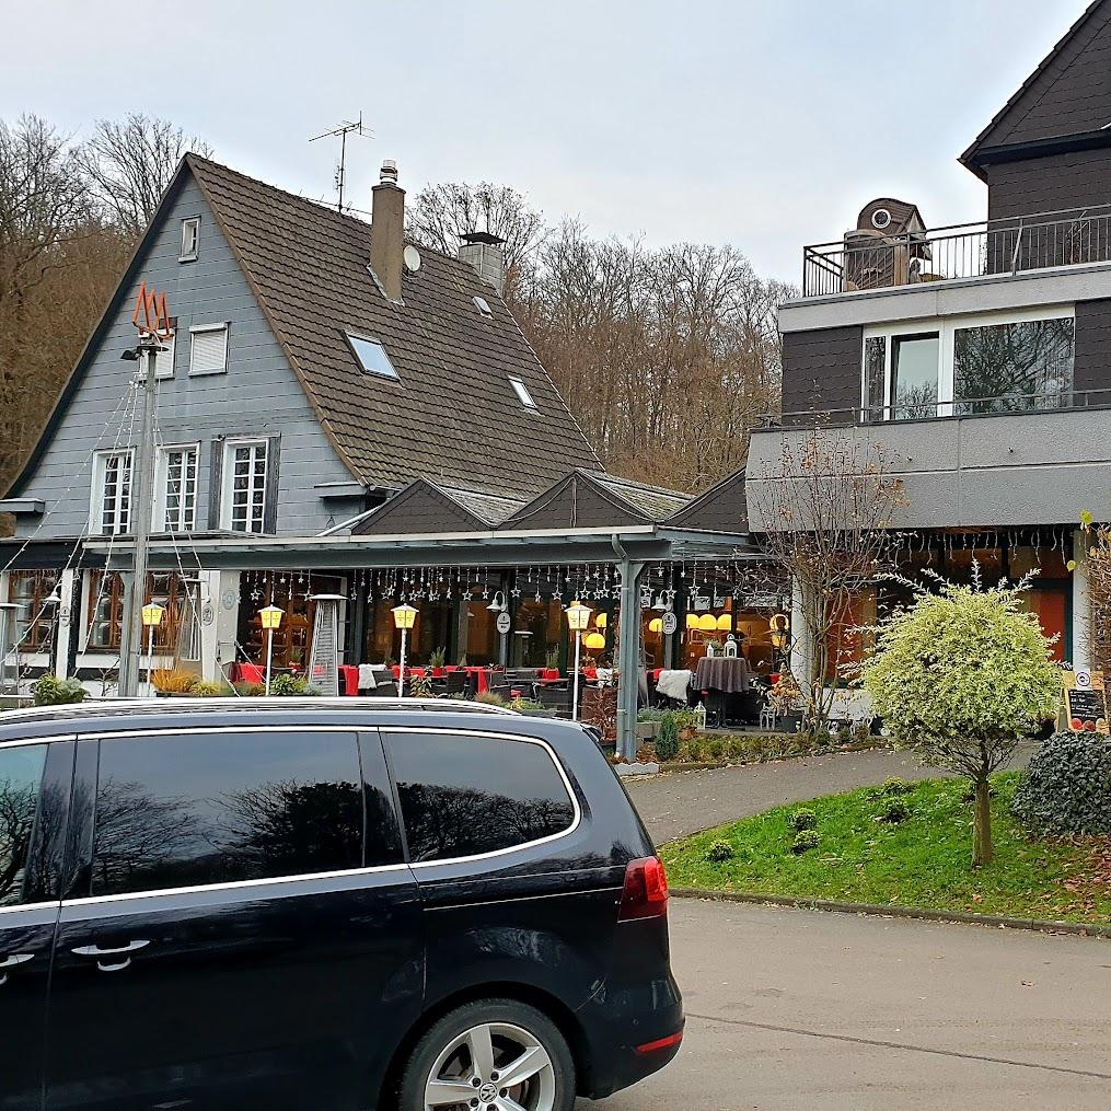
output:
[[[423,477],[531,497],[573,467],[601,468],[509,309],[470,266],[421,248],[396,304],[370,272],[366,221],[194,154],[186,162],[360,481],[400,487]],[[362,370],[344,332],[379,340],[398,380]],[[537,409],[520,403],[510,374]]]

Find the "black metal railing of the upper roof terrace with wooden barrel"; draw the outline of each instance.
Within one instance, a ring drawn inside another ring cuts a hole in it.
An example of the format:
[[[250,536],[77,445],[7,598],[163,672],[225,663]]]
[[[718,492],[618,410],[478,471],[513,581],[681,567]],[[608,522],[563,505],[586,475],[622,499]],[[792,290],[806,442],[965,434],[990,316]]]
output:
[[[850,232],[803,248],[802,296],[1107,261],[1111,204],[890,236]]]

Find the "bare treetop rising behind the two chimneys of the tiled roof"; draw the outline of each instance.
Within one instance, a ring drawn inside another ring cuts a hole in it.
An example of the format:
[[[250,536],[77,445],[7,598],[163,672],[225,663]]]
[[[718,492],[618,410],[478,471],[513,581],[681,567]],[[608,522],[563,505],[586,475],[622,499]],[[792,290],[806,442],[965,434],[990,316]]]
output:
[[[489,231],[504,239],[510,301],[548,236],[543,214],[531,208],[522,193],[490,181],[427,186],[409,203],[406,217],[413,239],[447,254],[456,254],[462,237],[472,231]]]

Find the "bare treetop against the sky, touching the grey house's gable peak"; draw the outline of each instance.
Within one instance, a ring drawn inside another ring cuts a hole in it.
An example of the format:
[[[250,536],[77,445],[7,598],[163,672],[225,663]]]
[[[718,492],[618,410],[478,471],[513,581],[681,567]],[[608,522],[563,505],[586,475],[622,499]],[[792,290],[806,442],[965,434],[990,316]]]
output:
[[[138,239],[189,151],[212,154],[208,143],[169,120],[132,112],[121,121],[98,120],[78,157],[108,219]]]

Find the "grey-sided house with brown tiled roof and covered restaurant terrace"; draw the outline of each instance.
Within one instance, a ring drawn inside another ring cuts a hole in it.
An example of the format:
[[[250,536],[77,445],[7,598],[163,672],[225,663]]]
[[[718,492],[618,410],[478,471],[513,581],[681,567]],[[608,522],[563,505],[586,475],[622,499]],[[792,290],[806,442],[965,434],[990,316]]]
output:
[[[320,593],[346,599],[349,663],[396,653],[399,600],[420,610],[414,662],[438,649],[472,663],[565,659],[572,591],[613,619],[612,651],[619,569],[630,659],[641,630],[645,662],[690,650],[637,603],[658,601],[688,558],[704,585],[700,560],[728,568],[747,553],[742,518],[723,509],[735,483],[691,501],[604,473],[501,299],[500,242],[478,232],[460,258],[407,249],[403,198],[387,163],[368,224],[184,159],[0,502],[17,518],[0,601],[22,604],[28,678],[49,669],[110,689],[119,663],[144,511],[132,496],[141,386],[121,360],[140,281],[164,290],[177,328],[156,367],[146,509],[146,592],[168,603],[156,665],[211,679],[258,663],[258,611],[274,603],[274,662],[302,668]],[[512,637],[494,629],[499,594]],[[722,587],[707,604],[724,620],[738,601]]]

